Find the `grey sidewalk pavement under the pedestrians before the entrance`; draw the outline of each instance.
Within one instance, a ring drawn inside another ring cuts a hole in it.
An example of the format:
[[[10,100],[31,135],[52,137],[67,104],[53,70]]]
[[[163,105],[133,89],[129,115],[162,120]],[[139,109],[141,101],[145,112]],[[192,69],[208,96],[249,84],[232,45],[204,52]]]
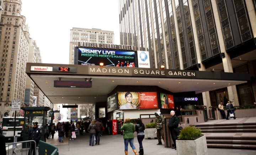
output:
[[[47,139],[47,143],[56,145],[59,149],[59,155],[124,155],[124,143],[122,135],[103,135],[100,137],[100,145],[89,146],[89,134],[78,136],[75,140],[64,138],[64,143],[58,143],[58,134],[54,139]],[[143,147],[145,155],[176,155],[177,151],[171,148],[165,148],[164,145],[156,145],[157,139],[144,139]],[[139,150],[137,137],[134,138],[134,146]],[[132,148],[128,146],[128,153],[134,154]],[[239,150],[239,149],[208,149],[208,155],[256,155],[256,150]]]

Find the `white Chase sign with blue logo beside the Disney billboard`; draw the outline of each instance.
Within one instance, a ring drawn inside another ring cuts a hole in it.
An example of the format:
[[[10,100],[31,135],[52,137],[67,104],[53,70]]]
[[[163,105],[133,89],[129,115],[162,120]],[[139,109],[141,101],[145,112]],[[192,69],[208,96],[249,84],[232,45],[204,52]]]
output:
[[[138,67],[139,68],[150,68],[149,52],[138,50],[137,54],[138,54]]]

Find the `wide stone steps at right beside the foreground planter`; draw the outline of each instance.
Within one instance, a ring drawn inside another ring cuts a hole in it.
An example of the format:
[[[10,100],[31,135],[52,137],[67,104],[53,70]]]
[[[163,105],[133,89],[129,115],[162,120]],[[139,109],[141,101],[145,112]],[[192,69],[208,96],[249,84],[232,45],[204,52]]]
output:
[[[256,123],[196,124],[206,135],[208,148],[256,150]]]

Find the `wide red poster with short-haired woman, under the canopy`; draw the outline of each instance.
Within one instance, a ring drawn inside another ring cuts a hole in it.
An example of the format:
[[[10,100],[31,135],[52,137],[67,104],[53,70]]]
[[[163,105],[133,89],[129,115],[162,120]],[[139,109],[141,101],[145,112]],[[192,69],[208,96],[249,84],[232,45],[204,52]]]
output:
[[[122,109],[157,109],[156,92],[118,92],[118,108]]]

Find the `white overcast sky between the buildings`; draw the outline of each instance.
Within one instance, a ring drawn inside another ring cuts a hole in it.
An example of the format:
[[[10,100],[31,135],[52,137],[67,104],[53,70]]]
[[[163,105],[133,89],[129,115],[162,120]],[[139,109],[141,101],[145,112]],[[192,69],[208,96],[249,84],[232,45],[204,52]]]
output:
[[[114,31],[119,44],[118,0],[22,0],[30,37],[43,63],[68,64],[72,27]]]

